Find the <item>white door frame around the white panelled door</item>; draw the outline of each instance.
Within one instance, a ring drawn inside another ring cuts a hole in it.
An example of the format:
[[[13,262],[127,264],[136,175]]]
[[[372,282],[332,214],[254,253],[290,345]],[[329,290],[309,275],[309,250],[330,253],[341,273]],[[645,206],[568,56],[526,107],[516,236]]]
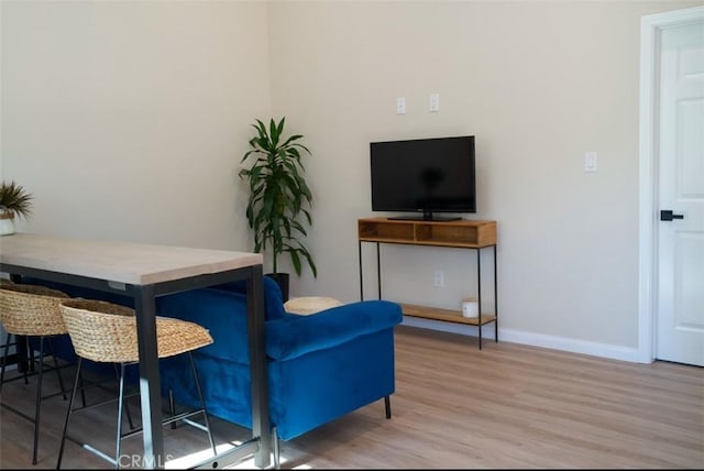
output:
[[[640,363],[656,359],[658,299],[658,98],[660,34],[663,29],[704,18],[704,7],[654,13],[640,19],[640,213],[638,352]]]

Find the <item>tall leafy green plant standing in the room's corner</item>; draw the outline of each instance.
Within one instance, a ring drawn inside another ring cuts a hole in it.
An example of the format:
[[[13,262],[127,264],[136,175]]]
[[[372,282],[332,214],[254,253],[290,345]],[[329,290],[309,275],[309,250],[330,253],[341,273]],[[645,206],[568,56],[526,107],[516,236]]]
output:
[[[310,251],[301,242],[307,236],[306,226],[312,224],[309,209],[312,195],[304,176],[301,152],[310,151],[299,142],[300,134],[284,138],[286,117],[278,123],[272,119],[268,128],[261,121],[252,127],[256,135],[250,140],[250,150],[241,163],[253,158],[251,167],[242,168],[239,176],[250,187],[246,218],[254,231],[254,251],[271,250],[272,273],[282,287],[284,302],[288,299],[288,273],[278,272],[278,256],[288,252],[300,276],[302,262],[307,262],[314,276],[318,269]]]

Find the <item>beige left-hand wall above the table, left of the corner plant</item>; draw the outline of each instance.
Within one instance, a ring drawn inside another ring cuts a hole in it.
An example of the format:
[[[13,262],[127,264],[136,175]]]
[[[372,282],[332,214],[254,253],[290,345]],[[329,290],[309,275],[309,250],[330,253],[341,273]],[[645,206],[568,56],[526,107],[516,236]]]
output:
[[[20,230],[251,250],[237,167],[270,112],[261,2],[2,2]]]

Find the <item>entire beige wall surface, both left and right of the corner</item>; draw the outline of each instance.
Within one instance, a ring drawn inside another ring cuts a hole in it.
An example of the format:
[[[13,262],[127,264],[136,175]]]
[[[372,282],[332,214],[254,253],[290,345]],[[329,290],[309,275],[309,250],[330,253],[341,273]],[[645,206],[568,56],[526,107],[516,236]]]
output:
[[[249,250],[240,156],[285,114],[314,153],[319,267],[292,295],[352,302],[370,141],[474,134],[502,338],[635,358],[639,22],[700,3],[3,1],[2,177],[36,197],[20,230]],[[384,260],[386,297],[472,294],[469,251]]]

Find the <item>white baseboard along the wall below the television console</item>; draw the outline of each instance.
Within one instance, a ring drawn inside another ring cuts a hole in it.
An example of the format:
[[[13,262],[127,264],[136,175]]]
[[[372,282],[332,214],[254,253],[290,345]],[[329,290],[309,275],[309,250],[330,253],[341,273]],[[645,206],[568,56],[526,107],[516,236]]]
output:
[[[460,333],[463,336],[477,337],[476,327],[463,324],[442,322],[431,319],[421,319],[418,317],[404,317],[404,326],[420,327],[425,329],[439,330],[442,332]],[[494,325],[484,326],[482,330],[482,340],[494,340]],[[541,347],[546,349],[566,351],[572,353],[583,353],[593,357],[608,358],[612,360],[628,361],[639,363],[638,349],[614,346],[608,343],[588,342],[579,339],[569,339],[564,337],[546,336],[542,333],[525,332],[521,330],[498,328],[498,341],[521,343],[531,347]]]

